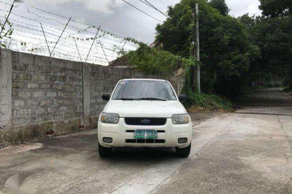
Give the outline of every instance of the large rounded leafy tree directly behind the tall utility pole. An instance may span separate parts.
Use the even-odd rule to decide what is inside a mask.
[[[259,55],[256,45],[238,19],[223,16],[204,0],[182,0],[169,7],[168,18],[156,27],[156,41],[175,55],[190,57],[195,41],[192,13],[199,4],[201,85],[205,92],[232,96],[240,90],[241,75],[252,58]],[[233,96],[232,96],[233,97]]]

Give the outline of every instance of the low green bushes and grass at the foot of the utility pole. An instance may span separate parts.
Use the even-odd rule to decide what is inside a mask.
[[[190,112],[232,112],[234,104],[226,98],[216,94],[204,94],[192,92],[187,95],[187,101],[184,103],[187,111]]]

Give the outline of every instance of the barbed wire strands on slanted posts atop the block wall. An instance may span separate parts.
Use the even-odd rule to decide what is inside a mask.
[[[0,4],[12,6],[3,1],[0,1]],[[74,61],[80,61],[80,57],[85,60],[89,55],[88,62],[97,64],[107,63],[108,59],[115,60],[121,50],[128,52],[138,47],[138,41],[101,28],[95,39],[93,34],[95,35],[98,30],[96,26],[74,19],[71,19],[70,23],[65,26],[68,22],[65,23],[65,19],[69,20],[69,17],[31,7],[37,12],[32,11],[33,9],[27,10],[28,14],[21,15],[11,12],[10,18],[8,18],[13,33],[9,38],[4,37],[1,42],[5,42],[12,50]],[[6,20],[4,13],[9,13],[9,11],[0,9],[1,22]],[[54,25],[54,22],[57,25]],[[84,29],[80,25],[76,26],[77,23],[84,25]],[[60,29],[60,25],[65,29]],[[94,46],[90,51],[93,42]],[[126,46],[123,47],[124,45]],[[55,50],[50,53],[53,47]],[[78,47],[79,54],[76,47]]]

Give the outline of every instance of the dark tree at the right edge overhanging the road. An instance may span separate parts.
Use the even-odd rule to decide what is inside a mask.
[[[262,16],[239,18],[248,27],[251,41],[261,50],[261,58],[253,61],[248,77],[268,82],[276,76],[290,80],[292,86],[292,75],[289,75],[292,72],[292,1],[260,0],[260,3]]]

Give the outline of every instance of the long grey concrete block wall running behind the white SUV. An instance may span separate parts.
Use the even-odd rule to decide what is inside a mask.
[[[123,78],[143,75],[111,68],[0,50],[0,148],[53,135],[97,128],[98,116]],[[183,78],[165,78],[180,93]]]

